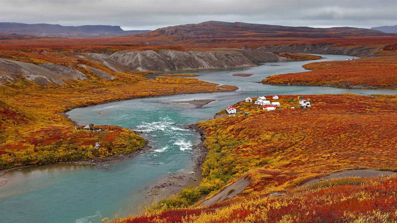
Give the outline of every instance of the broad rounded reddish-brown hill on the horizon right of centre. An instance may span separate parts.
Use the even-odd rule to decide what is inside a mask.
[[[360,36],[384,36],[381,31],[354,27],[290,27],[281,25],[262,25],[241,22],[208,21],[198,24],[169,26],[136,35],[137,37],[171,37],[173,40],[189,40],[195,43],[217,42],[227,39],[257,39],[277,37],[299,38],[341,38]]]

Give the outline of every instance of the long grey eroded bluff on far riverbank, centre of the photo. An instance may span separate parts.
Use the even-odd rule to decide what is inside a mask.
[[[271,52],[242,49],[154,52],[125,50],[110,55],[119,64],[138,71],[169,72],[192,69],[251,67],[257,63],[289,60]]]

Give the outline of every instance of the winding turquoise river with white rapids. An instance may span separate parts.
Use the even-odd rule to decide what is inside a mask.
[[[349,56],[321,55],[319,61],[345,60]],[[104,217],[137,213],[147,201],[147,191],[170,173],[190,173],[195,158],[191,150],[200,140],[186,125],[211,119],[216,112],[242,98],[272,94],[397,94],[396,90],[351,90],[331,87],[272,86],[254,82],[268,75],[305,71],[308,62],[272,62],[258,67],[195,73],[198,79],[234,85],[236,92],[185,94],[141,98],[76,108],[67,112],[81,125],[119,125],[141,131],[153,150],[100,167],[52,164],[13,170],[0,177],[9,183],[0,187],[1,222],[101,222]],[[233,73],[254,73],[251,77]],[[242,89],[241,89],[242,88]],[[215,99],[196,108],[189,104],[162,104],[170,101]]]

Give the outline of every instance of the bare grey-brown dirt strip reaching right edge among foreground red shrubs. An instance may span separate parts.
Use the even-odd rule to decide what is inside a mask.
[[[345,170],[336,173],[331,173],[326,177],[312,179],[310,181],[307,181],[301,186],[312,185],[314,183],[320,182],[321,180],[336,179],[343,177],[380,177],[383,175],[393,175],[393,174],[397,174],[397,172],[379,171],[374,169]]]

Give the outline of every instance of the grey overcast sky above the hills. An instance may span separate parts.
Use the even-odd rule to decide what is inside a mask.
[[[204,21],[371,28],[397,25],[397,0],[0,0],[0,21],[158,29]]]

